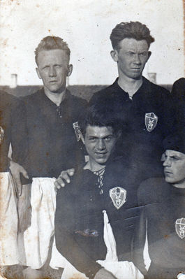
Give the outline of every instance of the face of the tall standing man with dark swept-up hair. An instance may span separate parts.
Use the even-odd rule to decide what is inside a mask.
[[[124,38],[119,42],[116,59],[119,73],[127,78],[139,79],[149,59],[149,46],[147,41],[137,41],[134,38]]]

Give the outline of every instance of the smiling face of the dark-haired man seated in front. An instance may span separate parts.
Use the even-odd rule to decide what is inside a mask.
[[[112,127],[88,125],[84,144],[89,155],[89,162],[94,166],[106,164],[116,142],[117,137]]]

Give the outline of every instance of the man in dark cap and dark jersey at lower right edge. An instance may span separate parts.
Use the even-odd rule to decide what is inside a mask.
[[[145,180],[138,189],[142,213],[135,230],[134,262],[147,279],[175,279],[178,273],[185,274],[184,139],[184,131],[165,138],[162,156],[164,178]],[[151,258],[148,272],[142,253],[146,231]]]

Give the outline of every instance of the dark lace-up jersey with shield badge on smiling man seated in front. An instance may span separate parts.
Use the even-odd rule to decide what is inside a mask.
[[[103,194],[98,187],[98,176],[89,170],[77,171],[71,180],[71,185],[57,192],[54,226],[61,255],[78,271],[93,278],[101,268],[96,260],[105,259],[107,252],[103,241],[103,210],[106,210],[118,259],[131,261],[131,243],[139,213],[135,176],[127,162],[114,159],[105,167]]]

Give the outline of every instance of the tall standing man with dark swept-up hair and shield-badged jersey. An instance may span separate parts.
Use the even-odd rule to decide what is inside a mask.
[[[112,59],[117,63],[118,78],[92,96],[90,103],[109,103],[120,115],[122,105],[128,103],[131,124],[129,144],[133,164],[158,173],[162,141],[170,130],[173,119],[170,93],[142,76],[154,42],[150,31],[140,22],[121,22],[110,35]],[[119,148],[121,152],[121,148]]]

